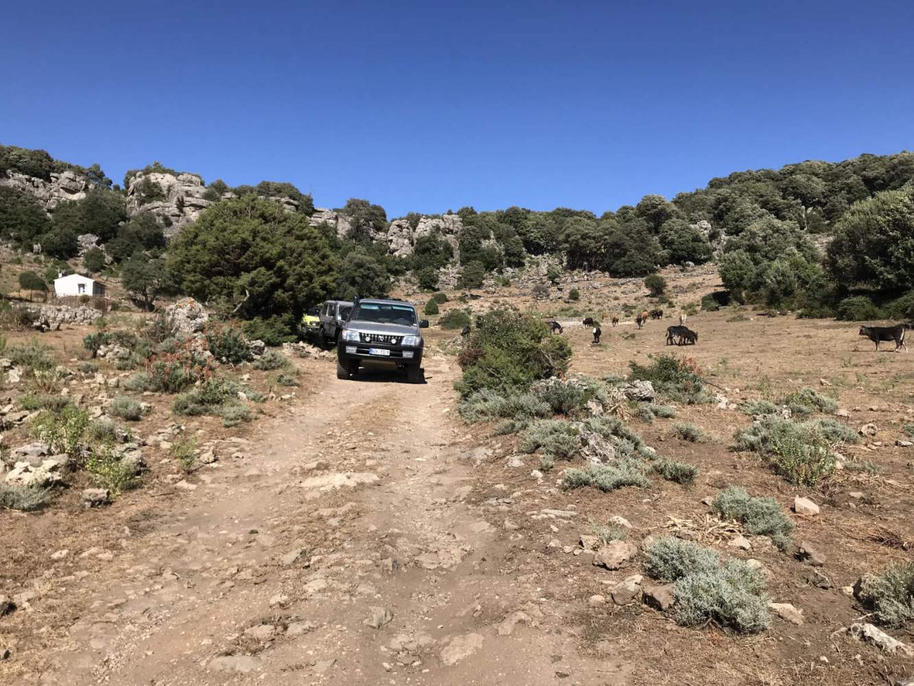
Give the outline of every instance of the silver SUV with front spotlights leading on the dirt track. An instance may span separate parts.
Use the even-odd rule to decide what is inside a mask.
[[[416,308],[399,300],[358,300],[336,343],[336,378],[350,379],[362,362],[406,370],[410,383],[421,383],[425,341]]]

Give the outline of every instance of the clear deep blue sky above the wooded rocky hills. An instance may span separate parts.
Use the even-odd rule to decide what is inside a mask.
[[[208,6],[204,6],[208,5]],[[0,143],[388,217],[914,148],[914,3],[4,3]]]

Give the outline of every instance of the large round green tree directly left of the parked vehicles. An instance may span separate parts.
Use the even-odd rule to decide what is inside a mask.
[[[172,241],[169,264],[198,300],[237,306],[268,343],[292,338],[306,307],[335,295],[332,236],[255,196],[218,202]]]

